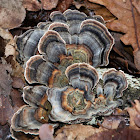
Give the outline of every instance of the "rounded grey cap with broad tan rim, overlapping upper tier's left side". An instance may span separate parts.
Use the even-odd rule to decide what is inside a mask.
[[[46,32],[39,41],[40,54],[46,54],[52,63],[58,63],[61,55],[66,55],[65,42],[56,31]]]

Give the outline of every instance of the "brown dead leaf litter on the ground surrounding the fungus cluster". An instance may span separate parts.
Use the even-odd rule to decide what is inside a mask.
[[[54,10],[60,10],[60,11],[65,11],[68,9],[68,7],[71,5],[71,1],[66,1],[62,0],[63,2],[58,2],[56,9]],[[88,3],[90,1],[90,3]],[[117,32],[122,32],[125,33],[122,36],[117,36],[116,38],[119,39],[121,38],[121,41],[125,45],[132,45],[133,47],[133,53],[132,50],[130,50],[129,53],[126,53],[126,51],[122,48],[119,48],[120,46],[117,45],[114,47],[114,51],[119,54],[118,58],[114,58],[116,61],[120,61],[121,63],[124,62],[124,68],[130,73],[135,73],[137,69],[139,69],[139,24],[138,24],[138,19],[140,18],[140,8],[139,4],[140,2],[137,0],[134,1],[97,1],[97,0],[85,0],[84,4],[82,3],[80,7],[85,7],[87,4],[89,14],[92,14],[92,4],[94,5],[94,8],[96,9],[94,12],[95,14],[102,14],[103,17],[105,17],[106,20],[106,25],[109,29],[112,31],[117,31]],[[78,1],[77,1],[78,2]],[[113,7],[114,3],[116,4],[115,7]],[[40,3],[38,3],[40,4]],[[91,5],[90,5],[91,4]],[[100,4],[100,5],[99,5]],[[74,5],[76,5],[74,3]],[[104,5],[105,7],[102,7]],[[37,11],[40,10],[40,6],[38,7],[33,7],[33,4],[31,6],[31,11]],[[90,6],[90,7],[89,7]],[[32,7],[35,8],[35,10],[32,10]],[[98,8],[97,8],[98,7]],[[113,7],[113,8],[112,8]],[[26,7],[25,7],[26,8]],[[107,9],[106,9],[107,8]],[[90,9],[90,10],[89,10]],[[118,10],[119,9],[119,10]],[[28,9],[27,9],[28,10]],[[51,9],[52,10],[52,9]],[[103,11],[106,11],[105,14],[103,14]],[[119,12],[118,12],[119,11]],[[126,11],[126,12],[125,12]],[[133,13],[132,13],[133,11]],[[40,12],[40,11],[39,11]],[[49,13],[50,11],[45,11],[46,13]],[[41,15],[41,13],[40,13]],[[125,16],[125,18],[123,18]],[[23,18],[23,17],[22,17]],[[126,19],[129,19],[129,22],[126,22]],[[10,21],[10,20],[9,20]],[[20,24],[22,22],[20,21]],[[135,26],[134,26],[135,25]],[[13,25],[7,25],[6,28],[11,29],[18,27],[18,24]],[[5,27],[4,27],[5,28]],[[3,35],[9,36],[6,32],[6,30],[3,30],[4,32]],[[6,32],[5,32],[6,31]],[[1,35],[2,36],[2,35]],[[5,42],[4,46],[4,55],[7,57],[6,61],[5,59],[2,59],[1,64],[0,64],[0,70],[2,73],[2,76],[0,77],[1,79],[1,88],[0,88],[0,112],[2,113],[2,117],[0,119],[0,127],[2,128],[0,131],[0,138],[6,138],[10,135],[9,131],[9,126],[10,126],[10,118],[12,114],[20,107],[22,106],[23,100],[22,100],[22,94],[19,91],[19,89],[22,89],[24,86],[24,76],[23,76],[23,69],[20,67],[20,65],[16,61],[16,53],[15,53],[15,44],[13,41],[13,37],[3,37],[2,38],[5,40],[5,38],[8,38]],[[9,41],[10,40],[10,41]],[[10,46],[9,46],[10,44]],[[14,46],[14,47],[11,47]],[[13,50],[13,51],[12,51]],[[134,56],[134,60],[133,57]],[[120,59],[120,57],[122,59]],[[133,63],[135,62],[135,64]],[[137,62],[138,61],[138,62]],[[117,64],[119,65],[119,64]],[[6,80],[6,78],[9,80]],[[83,139],[81,137],[83,134],[84,139],[90,140],[90,139],[138,139],[138,135],[140,134],[140,124],[139,124],[139,101],[135,101],[135,104],[133,104],[133,107],[130,107],[127,109],[129,115],[130,115],[130,126],[126,126],[126,124],[123,124],[125,117],[120,116],[109,116],[110,118],[105,118],[104,122],[99,128],[93,128],[92,126],[88,125],[65,125],[58,131],[54,133],[55,137],[54,139]],[[110,123],[110,119],[112,122]],[[105,124],[109,124],[109,129],[105,128]],[[114,128],[114,126],[116,126]],[[120,127],[121,126],[121,127]],[[47,127],[46,127],[47,128]],[[113,130],[111,130],[113,129]],[[7,130],[7,131],[5,131]],[[43,132],[45,133],[45,129]],[[81,133],[82,132],[82,133]],[[88,133],[90,132],[90,133]],[[52,131],[50,132],[50,134]],[[90,135],[91,134],[91,135]],[[20,132],[16,134],[18,139],[39,139],[38,137],[32,137],[32,136],[27,136],[24,133]],[[127,137],[126,137],[127,136]]]

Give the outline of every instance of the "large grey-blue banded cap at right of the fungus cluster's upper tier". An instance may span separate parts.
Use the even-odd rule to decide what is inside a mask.
[[[98,67],[108,64],[108,56],[114,39],[103,24],[87,19],[81,23],[79,44],[84,44],[91,50],[93,66]]]

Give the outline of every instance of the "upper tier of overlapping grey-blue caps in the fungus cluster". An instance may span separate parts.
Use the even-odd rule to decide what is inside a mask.
[[[74,57],[76,50],[78,55],[81,51],[81,55],[91,57],[86,63],[94,67],[108,64],[114,39],[101,16],[87,17],[85,13],[68,9],[63,14],[52,12],[50,19],[52,21],[41,22],[37,28],[17,37],[18,59],[24,64],[38,51],[45,54],[50,62],[56,63],[62,54]]]

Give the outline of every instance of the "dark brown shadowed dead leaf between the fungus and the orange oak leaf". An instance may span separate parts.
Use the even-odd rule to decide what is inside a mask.
[[[111,32],[115,39],[115,44],[110,53],[109,67],[115,67],[129,73],[135,74],[138,72],[134,64],[133,49],[131,46],[125,46],[120,37],[123,36],[121,33]]]

